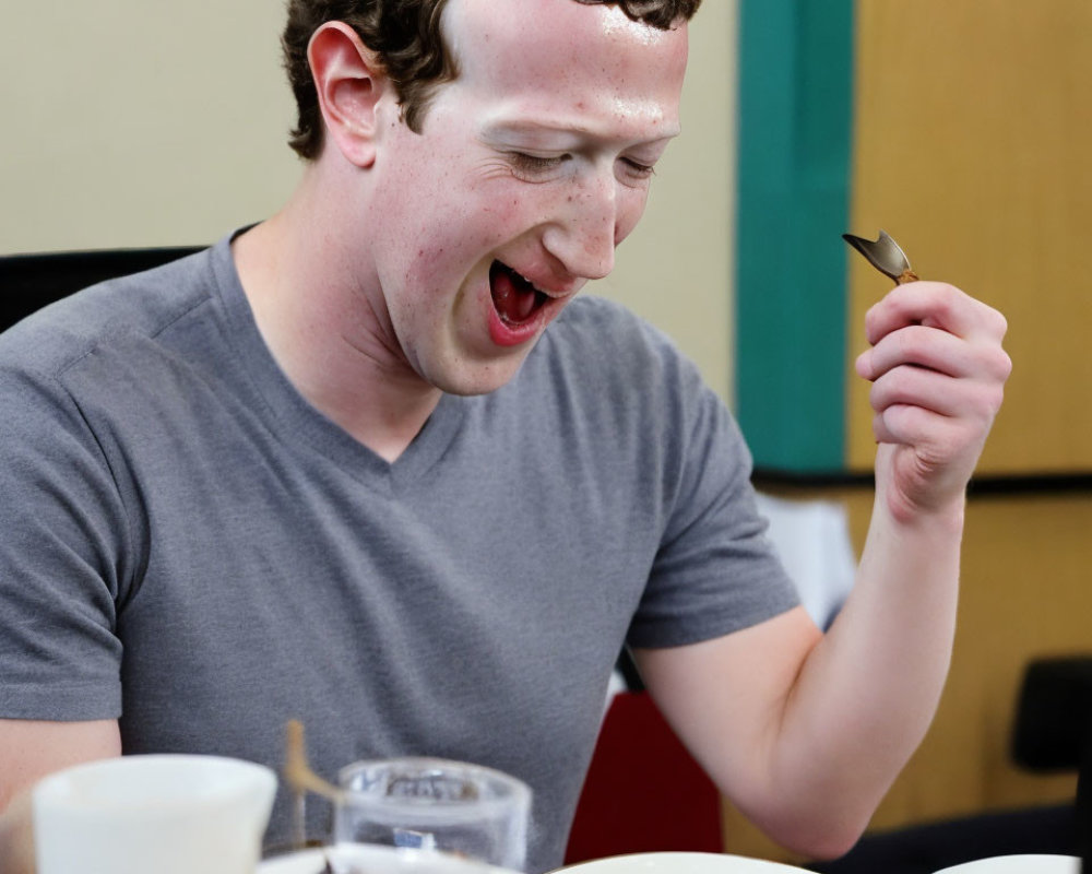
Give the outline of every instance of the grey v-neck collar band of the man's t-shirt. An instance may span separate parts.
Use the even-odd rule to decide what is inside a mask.
[[[399,489],[416,481],[443,454],[462,421],[465,401],[441,394],[425,426],[393,462],[361,444],[317,410],[290,382],[273,357],[254,320],[235,268],[232,237],[211,252],[215,286],[219,296],[227,341],[236,359],[261,398],[264,416],[282,441],[304,444],[322,453],[353,476],[370,485],[385,483]]]

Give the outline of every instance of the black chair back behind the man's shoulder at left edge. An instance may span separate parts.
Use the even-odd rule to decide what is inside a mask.
[[[96,282],[149,270],[201,248],[179,246],[0,256],[0,331],[46,304]]]

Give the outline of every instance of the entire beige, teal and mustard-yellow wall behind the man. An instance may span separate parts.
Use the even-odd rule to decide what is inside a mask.
[[[211,244],[292,190],[283,5],[0,0],[0,255]],[[934,728],[877,831],[1071,800],[1014,763],[1023,672],[1092,650],[1092,3],[707,0],[684,135],[595,291],[736,410],[757,482],[871,500],[862,320],[887,280],[842,232],[1001,309],[1014,361],[972,487]],[[0,294],[3,290],[0,288]],[[724,808],[736,852],[787,858]]]

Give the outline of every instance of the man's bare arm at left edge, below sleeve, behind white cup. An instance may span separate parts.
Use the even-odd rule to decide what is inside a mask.
[[[34,782],[70,765],[119,755],[121,737],[114,720],[0,719],[0,860],[5,874],[34,871],[29,803]]]

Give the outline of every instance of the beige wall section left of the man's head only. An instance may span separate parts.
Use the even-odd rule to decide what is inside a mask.
[[[281,9],[0,0],[0,251],[195,245],[268,215],[298,173]]]

